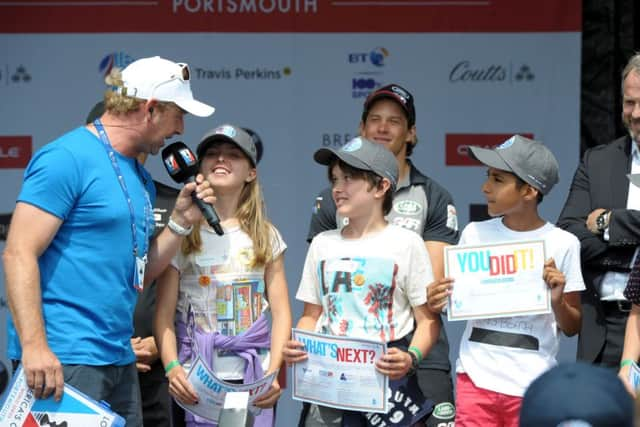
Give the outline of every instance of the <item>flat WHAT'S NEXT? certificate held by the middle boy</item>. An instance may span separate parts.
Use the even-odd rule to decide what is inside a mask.
[[[383,342],[293,329],[309,358],[293,367],[293,398],[350,411],[387,413],[389,378],[375,368]]]

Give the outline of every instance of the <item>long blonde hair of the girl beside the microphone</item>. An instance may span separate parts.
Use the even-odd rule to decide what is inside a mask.
[[[249,161],[249,163],[251,162]],[[250,267],[269,263],[272,257],[273,226],[267,219],[264,198],[257,176],[253,181],[244,184],[235,216],[240,222],[242,231],[247,233],[253,242],[253,259]],[[191,234],[182,242],[182,253],[189,255],[201,250],[200,224],[196,224]]]

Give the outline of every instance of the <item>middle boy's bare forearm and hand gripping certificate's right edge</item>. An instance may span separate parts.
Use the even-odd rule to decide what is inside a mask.
[[[416,319],[416,329],[409,346],[416,347],[424,357],[438,340],[440,321],[438,315],[432,313],[426,304],[413,307],[413,316]],[[387,353],[376,362],[378,371],[388,375],[391,380],[405,376],[410,367],[411,356],[408,352],[398,348],[390,348]]]

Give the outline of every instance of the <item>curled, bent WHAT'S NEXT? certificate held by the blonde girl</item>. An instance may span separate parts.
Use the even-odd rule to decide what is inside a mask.
[[[187,380],[193,385],[200,400],[197,405],[186,405],[177,399],[176,403],[194,415],[217,423],[227,393],[248,391],[249,412],[258,415],[261,409],[253,406],[253,402],[269,390],[276,375],[278,375],[277,371],[272,372],[252,384],[230,384],[216,377],[206,363],[198,357],[187,373]]]

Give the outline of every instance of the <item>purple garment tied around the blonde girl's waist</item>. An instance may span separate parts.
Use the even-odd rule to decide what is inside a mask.
[[[192,316],[189,316],[187,324],[176,321],[176,338],[178,341],[180,363],[195,359],[196,351],[202,360],[207,364],[209,369],[215,372],[213,366],[213,355],[218,350],[224,350],[234,353],[236,356],[243,358],[246,363],[244,372],[245,384],[250,384],[264,377],[264,370],[258,357],[258,349],[270,348],[271,333],[269,324],[264,314],[256,320],[253,325],[245,332],[236,336],[226,336],[219,332],[204,332],[200,327],[195,325]],[[189,333],[192,331],[192,334]],[[195,341],[195,342],[194,342]],[[217,426],[204,418],[195,416],[189,412],[185,412],[185,421],[188,426]],[[255,427],[272,427],[274,421],[273,408],[263,409],[260,415],[255,417]]]

